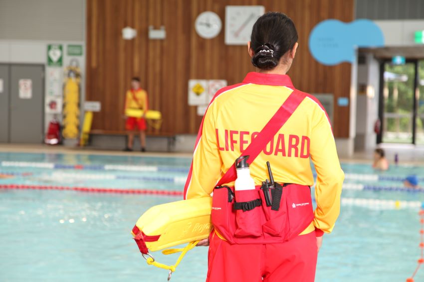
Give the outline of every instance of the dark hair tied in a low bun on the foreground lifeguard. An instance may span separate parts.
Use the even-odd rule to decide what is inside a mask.
[[[268,12],[262,15],[253,25],[250,36],[250,48],[255,52],[253,66],[259,69],[275,68],[297,39],[296,27],[286,14]]]

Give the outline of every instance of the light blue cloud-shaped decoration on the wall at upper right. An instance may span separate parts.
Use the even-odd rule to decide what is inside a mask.
[[[324,65],[355,60],[355,47],[383,47],[380,27],[369,19],[342,22],[328,19],[318,23],[309,35],[309,51]]]

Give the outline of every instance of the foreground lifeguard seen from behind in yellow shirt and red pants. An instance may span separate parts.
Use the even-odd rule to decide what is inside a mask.
[[[344,174],[327,113],[286,75],[297,39],[285,14],[262,15],[248,44],[257,72],[219,90],[199,130],[185,198],[213,192],[214,229],[199,243],[210,246],[208,282],[314,281],[339,215]]]

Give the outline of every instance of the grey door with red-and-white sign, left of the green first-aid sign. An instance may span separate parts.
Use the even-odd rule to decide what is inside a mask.
[[[10,66],[10,143],[41,143],[43,140],[43,72],[44,66],[40,65]],[[28,85],[28,80],[32,84],[31,91],[22,87]]]

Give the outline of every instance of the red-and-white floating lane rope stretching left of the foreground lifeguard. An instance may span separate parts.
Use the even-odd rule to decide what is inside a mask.
[[[81,191],[81,192],[150,194],[150,195],[165,195],[165,196],[182,196],[183,195],[183,191],[176,191],[176,190],[64,187],[64,186],[44,186],[44,185],[17,185],[17,184],[0,185],[0,189],[69,190],[69,191]]]

